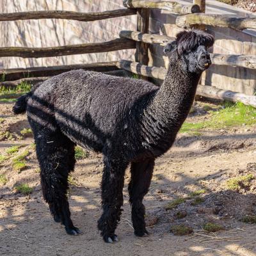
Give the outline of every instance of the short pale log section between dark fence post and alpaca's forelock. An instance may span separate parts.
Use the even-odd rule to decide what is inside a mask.
[[[168,42],[172,42],[175,38],[164,35],[147,34],[138,31],[120,31],[119,36],[121,38],[127,38],[138,42],[144,42],[147,44],[160,44],[166,45]]]

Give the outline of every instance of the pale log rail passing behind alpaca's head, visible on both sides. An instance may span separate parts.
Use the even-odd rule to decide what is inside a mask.
[[[127,38],[138,42],[145,42],[147,44],[160,44],[166,45],[168,42],[172,42],[175,38],[164,35],[155,34],[143,34],[137,31],[120,31],[119,36],[121,38]],[[211,53],[212,64],[236,66],[244,68],[256,69],[256,56],[254,55],[236,55],[236,54],[218,54]]]

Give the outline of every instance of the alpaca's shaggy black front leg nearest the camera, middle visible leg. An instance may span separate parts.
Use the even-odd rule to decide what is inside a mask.
[[[107,157],[106,157],[107,158]],[[102,175],[102,209],[103,213],[98,221],[98,228],[106,243],[118,241],[115,229],[122,212],[124,173],[127,164],[120,161],[104,161]]]

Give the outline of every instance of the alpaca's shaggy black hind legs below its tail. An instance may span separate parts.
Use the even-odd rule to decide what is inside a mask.
[[[34,131],[35,132],[35,131]],[[42,193],[56,222],[65,225],[67,234],[81,231],[70,219],[67,200],[68,173],[74,170],[74,143],[63,134],[42,129],[35,133],[36,154],[41,169]]]

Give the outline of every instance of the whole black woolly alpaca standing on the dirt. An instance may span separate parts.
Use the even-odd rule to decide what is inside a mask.
[[[27,112],[35,137],[43,196],[54,220],[63,223],[68,234],[81,233],[70,219],[67,200],[75,145],[103,154],[98,228],[104,241],[117,241],[129,164],[134,234],[148,234],[142,201],[154,161],[172,146],[188,116],[200,75],[211,65],[207,49],[213,42],[203,31],[177,34],[164,48],[170,66],[160,88],[140,79],[73,70],[51,77],[17,100],[13,112]]]

